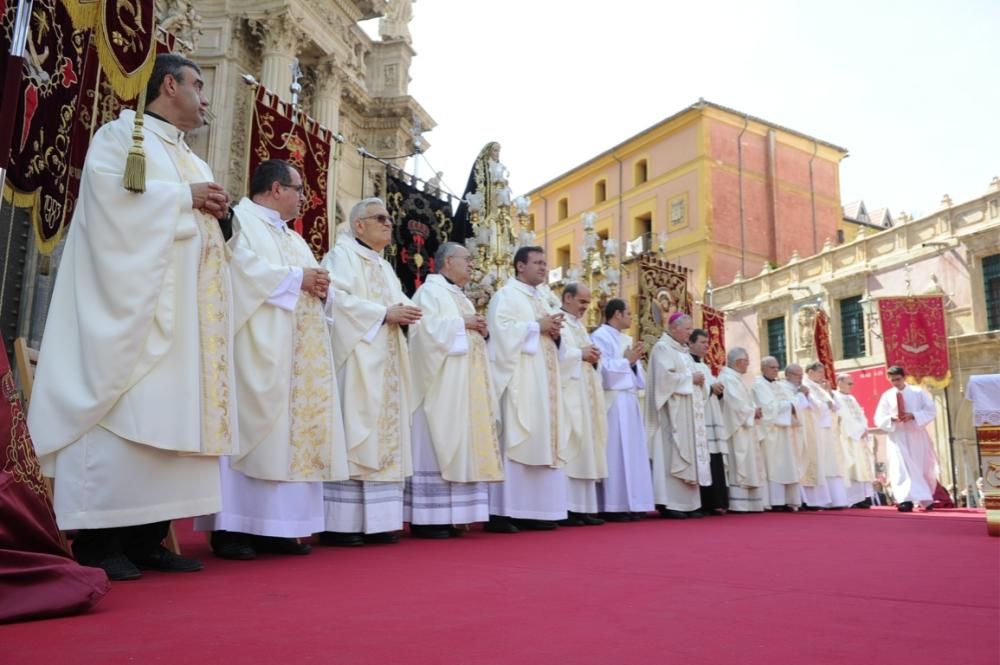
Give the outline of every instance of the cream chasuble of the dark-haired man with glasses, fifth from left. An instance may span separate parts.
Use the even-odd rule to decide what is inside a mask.
[[[558,350],[537,323],[551,313],[541,292],[513,279],[490,300],[486,316],[504,454],[527,466],[561,468],[567,436]]]

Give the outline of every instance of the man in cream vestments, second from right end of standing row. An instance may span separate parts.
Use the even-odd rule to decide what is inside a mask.
[[[822,460],[826,489],[830,497],[829,503],[820,507],[846,508],[849,505],[847,487],[851,483],[850,462],[840,443],[840,404],[827,389],[826,368],[823,363],[817,361],[806,366],[802,385],[809,391],[816,448]]]

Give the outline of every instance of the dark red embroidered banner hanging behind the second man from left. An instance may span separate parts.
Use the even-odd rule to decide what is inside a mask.
[[[295,113],[262,85],[253,99],[253,121],[247,155],[247,182],[261,162],[283,159],[302,176],[303,194],[295,230],[305,238],[317,261],[330,249],[327,183],[333,156],[333,133],[309,116]]]

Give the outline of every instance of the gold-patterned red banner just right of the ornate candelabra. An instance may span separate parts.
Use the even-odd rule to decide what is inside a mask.
[[[664,318],[674,312],[691,314],[687,278],[691,271],[651,254],[639,257],[639,339],[652,349],[660,338]]]

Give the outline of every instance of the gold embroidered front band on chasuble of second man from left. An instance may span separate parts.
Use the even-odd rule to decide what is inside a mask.
[[[284,265],[312,267],[315,259],[296,235],[268,224]],[[333,463],[331,404],[334,391],[333,356],[323,305],[301,293],[295,305],[292,333],[292,383],[288,406],[291,416],[288,458],[289,480],[322,480]]]

